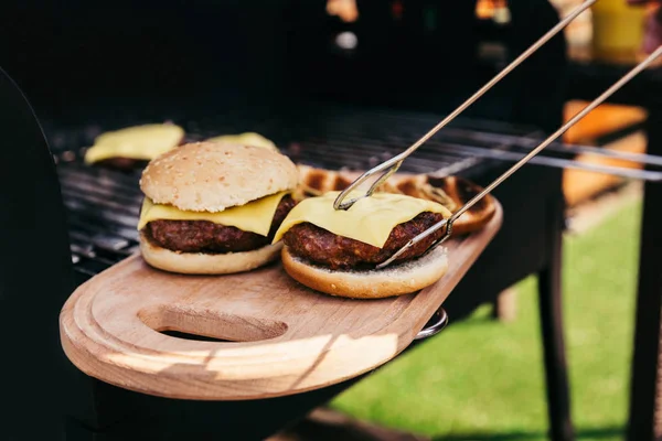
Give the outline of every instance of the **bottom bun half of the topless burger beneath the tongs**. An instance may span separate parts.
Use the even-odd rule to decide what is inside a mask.
[[[441,247],[419,259],[373,270],[332,270],[292,256],[287,247],[281,256],[282,267],[299,283],[352,299],[381,299],[416,292],[441,279],[448,270],[448,257]]]

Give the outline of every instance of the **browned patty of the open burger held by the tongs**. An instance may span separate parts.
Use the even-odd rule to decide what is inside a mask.
[[[338,236],[310,223],[295,225],[284,235],[282,241],[292,255],[331,269],[361,269],[385,261],[407,241],[442,219],[438,213],[420,213],[412,220],[396,225],[383,248]],[[421,256],[442,235],[444,228],[409,248],[396,261]]]

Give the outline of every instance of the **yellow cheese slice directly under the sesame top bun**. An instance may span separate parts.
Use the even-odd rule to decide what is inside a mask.
[[[172,205],[154,204],[149,197],[146,197],[140,211],[138,229],[142,229],[152,220],[209,220],[214,224],[268,236],[276,208],[278,208],[280,200],[288,193],[287,191],[276,193],[218,213],[188,212]]]

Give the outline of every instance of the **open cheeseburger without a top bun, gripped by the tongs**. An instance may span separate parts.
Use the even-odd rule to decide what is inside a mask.
[[[340,192],[301,201],[274,236],[282,239],[282,265],[300,283],[332,295],[382,298],[418,291],[448,269],[446,252],[419,241],[391,266],[376,269],[410,239],[450,217],[444,205],[404,194],[376,193],[346,211],[333,208]]]

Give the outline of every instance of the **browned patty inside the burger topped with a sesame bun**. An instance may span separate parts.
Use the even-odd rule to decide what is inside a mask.
[[[287,195],[276,208],[268,236],[244,232],[209,220],[152,220],[146,225],[147,237],[172,251],[223,254],[250,251],[271,243],[276,230],[296,205]]]

